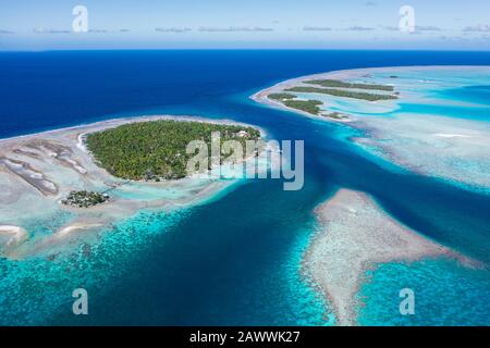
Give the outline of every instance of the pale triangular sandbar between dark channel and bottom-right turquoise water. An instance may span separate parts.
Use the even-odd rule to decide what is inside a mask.
[[[365,194],[341,189],[316,209],[320,227],[304,271],[332,303],[336,325],[356,325],[356,298],[366,271],[377,264],[454,258],[473,261],[401,225]]]

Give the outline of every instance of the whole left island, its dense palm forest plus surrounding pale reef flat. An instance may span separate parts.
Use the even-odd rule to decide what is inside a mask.
[[[186,153],[188,142],[216,148],[215,132],[220,145],[235,140],[248,149],[248,141],[261,144],[261,130],[250,125],[183,115],[114,119],[0,139],[0,258],[49,256],[53,246],[98,233],[143,209],[171,212],[232,187],[237,181],[186,171],[187,158],[196,156]],[[256,153],[246,152],[243,161],[255,160]],[[228,161],[240,161],[231,154],[221,153],[225,170]],[[211,162],[215,169],[218,161]],[[24,225],[52,216],[65,219],[49,226],[52,234],[30,243]]]

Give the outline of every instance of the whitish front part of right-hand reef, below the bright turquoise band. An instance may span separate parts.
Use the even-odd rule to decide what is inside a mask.
[[[421,175],[457,186],[490,191],[490,123],[444,116],[401,113],[396,119],[372,117],[358,125],[354,139]]]

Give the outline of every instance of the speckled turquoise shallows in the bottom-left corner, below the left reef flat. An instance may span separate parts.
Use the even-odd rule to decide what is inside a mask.
[[[132,259],[185,214],[142,212],[111,226],[110,233],[93,236],[95,240],[60,250],[54,258],[41,254],[23,261],[0,260],[0,325],[44,324],[60,307],[71,306],[73,289],[86,286],[97,293],[99,287],[115,284]]]

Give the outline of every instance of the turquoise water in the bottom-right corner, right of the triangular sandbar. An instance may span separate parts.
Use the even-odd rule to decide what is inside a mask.
[[[359,310],[360,325],[489,324],[488,271],[468,270],[454,260],[424,260],[383,264],[368,272],[368,279],[358,295],[366,303]],[[415,315],[400,315],[403,288],[414,290]],[[464,308],[471,314],[462,313]]]

